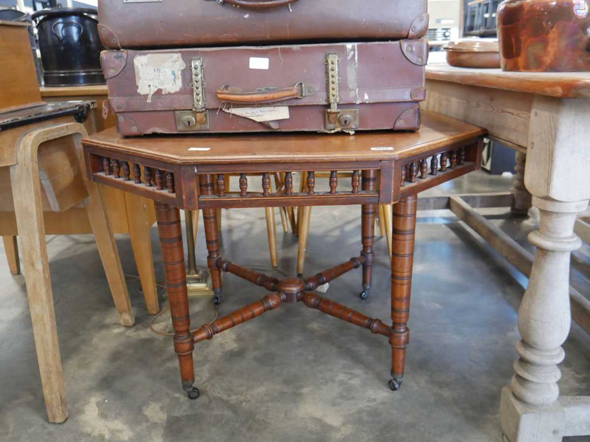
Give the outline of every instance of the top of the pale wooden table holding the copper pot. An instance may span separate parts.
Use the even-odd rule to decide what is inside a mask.
[[[445,62],[428,64],[426,78],[558,98],[590,98],[590,72],[504,72],[455,68]]]

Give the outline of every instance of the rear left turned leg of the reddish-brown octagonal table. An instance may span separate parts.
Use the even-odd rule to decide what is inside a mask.
[[[213,175],[201,175],[201,194],[212,195],[214,191]],[[211,280],[213,284],[213,293],[215,297],[213,302],[221,302],[221,271],[215,265],[220,258],[219,255],[219,229],[217,227],[217,211],[215,209],[203,209],[203,225],[205,226],[205,240],[207,242],[207,265],[211,271]]]

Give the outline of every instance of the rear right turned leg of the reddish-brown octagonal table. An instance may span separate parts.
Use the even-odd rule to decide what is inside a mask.
[[[362,190],[375,190],[376,170],[363,170]],[[375,217],[377,216],[377,204],[362,205],[362,243],[363,249],[360,255],[365,256],[363,263],[363,291],[360,292],[360,299],[367,299],[371,290],[373,277],[373,245],[375,245]]]

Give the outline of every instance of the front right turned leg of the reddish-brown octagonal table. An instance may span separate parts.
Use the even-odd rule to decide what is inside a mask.
[[[389,388],[399,390],[404,377],[405,351],[409,342],[409,299],[416,229],[416,196],[394,204],[391,254],[391,376]]]

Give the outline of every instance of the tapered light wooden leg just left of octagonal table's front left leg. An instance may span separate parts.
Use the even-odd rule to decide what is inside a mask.
[[[150,237],[149,206],[150,200],[125,192],[125,206],[127,209],[127,225],[129,238],[135,256],[137,273],[142,285],[143,298],[150,315],[160,311],[158,301],[158,286],[153,265],[152,239]]]

